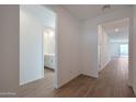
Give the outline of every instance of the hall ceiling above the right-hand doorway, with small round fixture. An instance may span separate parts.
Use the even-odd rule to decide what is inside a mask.
[[[61,4],[61,7],[79,20],[88,20],[131,5],[111,4],[111,9],[105,9],[104,11],[102,11],[103,4]]]

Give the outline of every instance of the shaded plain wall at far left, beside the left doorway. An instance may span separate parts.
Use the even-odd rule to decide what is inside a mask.
[[[19,11],[0,5],[0,97],[16,97],[19,88]]]

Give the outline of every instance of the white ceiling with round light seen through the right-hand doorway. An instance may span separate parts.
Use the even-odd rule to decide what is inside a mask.
[[[118,21],[107,22],[102,24],[102,27],[114,41],[126,41],[128,39],[128,19],[123,19]],[[118,29],[118,32],[115,32],[115,29]]]

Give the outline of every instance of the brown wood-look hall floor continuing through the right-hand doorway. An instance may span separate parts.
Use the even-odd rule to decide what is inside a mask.
[[[58,97],[107,97],[129,98],[134,97],[132,88],[127,86],[127,58],[113,59],[101,72],[100,78],[94,79],[79,76],[68,84],[60,88]]]

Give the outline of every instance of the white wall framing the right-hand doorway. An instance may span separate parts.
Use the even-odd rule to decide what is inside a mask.
[[[83,70],[82,73],[98,77],[99,76],[99,57],[98,57],[98,25],[105,22],[111,22],[115,20],[121,20],[124,18],[129,18],[132,20],[132,7],[128,9],[123,9],[118,11],[111,12],[84,22],[83,34],[82,34],[82,61]],[[131,21],[132,27],[132,21]],[[129,37],[132,37],[132,32],[129,32]],[[129,50],[132,49],[132,41],[129,41]],[[129,57],[132,54],[129,53]],[[129,63],[132,60],[129,58]],[[129,64],[129,70],[132,68]],[[132,70],[131,70],[132,71]],[[131,76],[131,73],[129,73]]]

